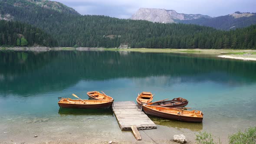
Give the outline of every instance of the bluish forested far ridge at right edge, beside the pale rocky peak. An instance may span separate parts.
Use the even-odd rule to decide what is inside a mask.
[[[180,23],[197,24],[214,27],[216,29],[230,30],[256,24],[256,15],[255,13],[235,12],[233,14],[213,17],[211,19],[199,18],[196,20],[181,20]]]

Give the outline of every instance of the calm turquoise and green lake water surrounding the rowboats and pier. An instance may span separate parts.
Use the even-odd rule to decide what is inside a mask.
[[[122,133],[111,109],[57,104],[58,97],[88,99],[86,92],[95,90],[115,101],[136,101],[142,91],[155,94],[153,101],[183,97],[187,107],[203,111],[201,124],[151,117],[166,131],[209,131],[224,138],[256,125],[256,62],[170,53],[0,52],[0,139],[56,130],[53,138],[61,131]]]

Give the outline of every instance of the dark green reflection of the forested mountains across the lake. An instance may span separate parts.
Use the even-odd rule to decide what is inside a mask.
[[[256,82],[255,72],[256,62],[170,53],[0,52],[1,93],[62,91],[80,80],[151,76],[162,79],[158,82],[221,80],[232,85],[249,84]]]

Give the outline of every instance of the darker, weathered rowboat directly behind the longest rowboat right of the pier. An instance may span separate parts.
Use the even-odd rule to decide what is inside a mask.
[[[184,107],[188,104],[187,99],[185,98],[174,98],[171,101],[158,101],[158,102],[149,102],[147,105],[152,106],[161,106],[161,107],[167,107],[167,108],[179,108]]]

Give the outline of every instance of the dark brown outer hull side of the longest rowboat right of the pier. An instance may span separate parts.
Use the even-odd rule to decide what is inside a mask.
[[[166,118],[166,119],[177,120],[177,121],[188,121],[188,122],[202,122],[203,121],[203,118],[186,117],[186,116],[182,116],[182,115],[167,114],[167,113],[164,113],[164,112],[161,112],[161,111],[153,110],[153,109],[148,108],[144,105],[142,105],[142,109],[146,114],[152,115],[152,116],[155,116],[155,117],[159,117],[159,118]]]

